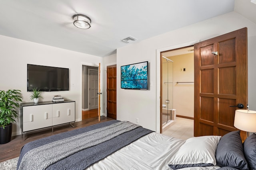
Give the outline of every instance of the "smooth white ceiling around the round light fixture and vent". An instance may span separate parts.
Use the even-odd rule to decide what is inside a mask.
[[[251,6],[256,11],[250,0],[0,0],[0,35],[104,57],[129,45],[125,37],[141,41],[232,11],[256,23]],[[74,14],[92,27],[76,28]]]

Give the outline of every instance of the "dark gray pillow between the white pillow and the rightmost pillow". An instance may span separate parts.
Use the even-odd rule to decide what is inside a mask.
[[[240,170],[248,170],[240,131],[232,131],[220,138],[215,157],[216,163],[220,167],[230,166]]]

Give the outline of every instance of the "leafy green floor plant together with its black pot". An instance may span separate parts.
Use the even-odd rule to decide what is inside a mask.
[[[11,141],[12,122],[18,117],[18,102],[22,102],[20,90],[0,90],[0,144]]]

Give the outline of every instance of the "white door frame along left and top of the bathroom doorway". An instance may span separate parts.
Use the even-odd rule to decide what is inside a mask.
[[[169,47],[164,47],[156,50],[156,132],[160,133],[160,53],[168,50],[178,49],[182,47],[188,47],[198,43],[200,40],[190,41],[182,44],[172,45]]]

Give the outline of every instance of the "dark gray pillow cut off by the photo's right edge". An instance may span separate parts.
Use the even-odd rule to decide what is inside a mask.
[[[244,141],[244,157],[250,170],[256,170],[256,134],[253,133]]]

